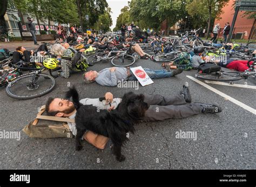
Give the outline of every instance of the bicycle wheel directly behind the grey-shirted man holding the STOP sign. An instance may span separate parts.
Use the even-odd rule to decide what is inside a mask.
[[[127,67],[127,66],[131,66],[135,61],[136,59],[132,55],[120,54],[120,55],[114,56],[113,59],[111,60],[111,63],[117,67]]]

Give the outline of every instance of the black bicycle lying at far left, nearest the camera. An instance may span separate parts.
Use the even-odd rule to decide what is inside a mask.
[[[7,79],[7,85],[5,93],[15,99],[32,99],[36,97],[41,97],[53,90],[56,85],[55,77],[50,75],[43,74],[42,72],[47,69],[42,66],[40,69],[37,68],[24,68],[24,64],[18,63],[18,66],[15,68],[9,68],[0,70],[0,72],[15,72],[18,70],[34,70],[30,73],[23,74],[14,78]],[[7,74],[8,75],[8,74]],[[2,77],[3,78],[3,77]]]

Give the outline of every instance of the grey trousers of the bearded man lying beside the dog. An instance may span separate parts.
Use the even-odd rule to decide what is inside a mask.
[[[197,103],[186,104],[183,95],[164,97],[161,95],[145,95],[144,102],[150,107],[143,121],[162,121],[165,119],[181,119],[199,114],[202,107]]]

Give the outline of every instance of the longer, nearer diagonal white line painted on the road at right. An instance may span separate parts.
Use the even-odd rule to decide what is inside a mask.
[[[221,92],[221,91],[219,91],[219,90],[217,90],[217,89],[215,89],[215,88],[210,87],[210,85],[207,85],[207,84],[205,84],[205,83],[203,83],[203,82],[197,80],[197,79],[194,78],[194,77],[191,77],[191,76],[188,76],[188,75],[187,75],[187,77],[190,78],[192,81],[197,82],[198,84],[203,85],[203,87],[205,87],[205,88],[207,88],[207,89],[209,89],[209,90],[211,90],[211,91],[217,93],[217,94],[220,95],[221,97],[224,97],[224,98],[230,100],[232,103],[234,103],[234,104],[236,104],[236,105],[238,105],[238,106],[241,106],[243,109],[245,109],[245,110],[247,110],[247,111],[249,111],[249,112],[252,112],[253,114],[256,115],[256,110],[253,109],[252,107],[250,107],[250,106],[248,106],[248,105],[246,105],[246,104],[244,104],[244,103],[241,103],[239,100],[234,99],[233,97],[230,97],[230,96],[226,95],[225,93],[223,93],[223,92]]]

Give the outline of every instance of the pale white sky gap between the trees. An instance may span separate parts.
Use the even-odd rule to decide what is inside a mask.
[[[124,6],[128,6],[129,1],[131,0],[106,0],[112,11],[111,18],[113,21],[113,25],[110,27],[111,29],[113,29],[116,26],[117,17],[120,15],[121,9],[123,9]]]

